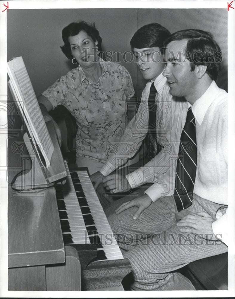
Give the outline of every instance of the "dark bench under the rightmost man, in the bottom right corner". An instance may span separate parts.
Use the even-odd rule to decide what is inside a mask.
[[[228,253],[194,261],[180,272],[191,281],[196,290],[227,290]]]

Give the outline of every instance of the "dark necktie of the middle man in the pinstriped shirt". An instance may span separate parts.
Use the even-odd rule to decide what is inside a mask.
[[[146,143],[146,162],[150,161],[155,155],[159,152],[159,144],[157,144],[156,138],[156,121],[157,121],[157,104],[155,102],[156,88],[154,83],[151,84],[149,99],[148,99],[148,108],[149,108],[149,128],[148,133],[145,138]]]

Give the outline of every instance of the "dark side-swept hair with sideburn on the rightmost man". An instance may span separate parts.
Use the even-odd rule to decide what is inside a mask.
[[[206,65],[206,73],[211,80],[217,80],[222,52],[210,32],[199,29],[187,29],[177,31],[165,40],[163,47],[167,48],[170,42],[186,39],[187,46],[184,49],[184,56],[191,62],[191,71],[196,65]]]

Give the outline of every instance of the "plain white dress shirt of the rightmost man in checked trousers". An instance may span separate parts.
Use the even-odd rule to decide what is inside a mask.
[[[228,205],[228,156],[227,156],[227,92],[213,81],[205,93],[193,104],[196,120],[197,172],[194,193],[209,201]],[[187,107],[182,111],[181,127],[186,120]],[[179,129],[179,127],[178,127]],[[181,129],[181,131],[182,131]],[[180,134],[181,134],[180,131]],[[175,135],[180,140],[179,132]],[[179,144],[177,146],[177,152]],[[168,171],[157,177],[157,183],[145,191],[153,201],[174,194],[176,160]],[[214,234],[221,234],[226,244],[227,215],[219,212],[213,222]]]

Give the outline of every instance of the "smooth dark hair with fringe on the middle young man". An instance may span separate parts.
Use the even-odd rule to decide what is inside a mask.
[[[159,47],[163,53],[162,46],[165,39],[171,35],[170,31],[158,23],[144,25],[133,35],[130,44],[131,49],[143,49]]]

